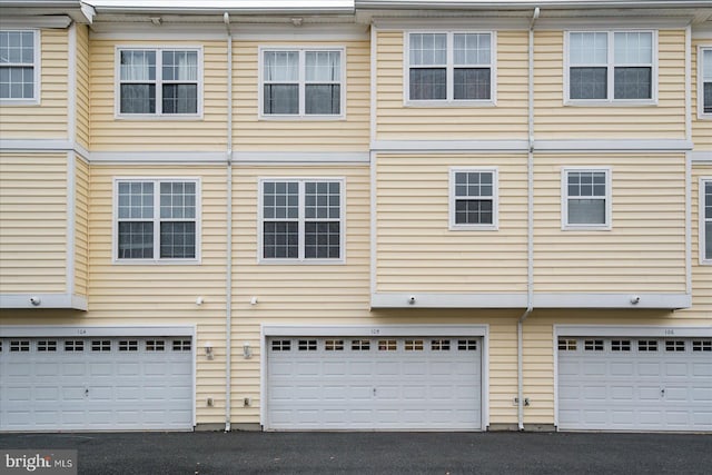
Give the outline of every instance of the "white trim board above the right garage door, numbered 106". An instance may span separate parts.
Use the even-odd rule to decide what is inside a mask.
[[[554,325],[554,336],[708,337],[712,336],[712,326]]]

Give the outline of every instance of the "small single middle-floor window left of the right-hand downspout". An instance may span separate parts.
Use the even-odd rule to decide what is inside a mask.
[[[451,230],[496,230],[497,211],[496,168],[451,168]]]

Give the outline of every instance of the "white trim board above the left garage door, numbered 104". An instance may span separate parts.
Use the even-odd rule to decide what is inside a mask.
[[[192,336],[194,326],[0,325],[0,337]]]

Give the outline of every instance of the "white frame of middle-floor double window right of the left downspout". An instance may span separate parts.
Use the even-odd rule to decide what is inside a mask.
[[[298,228],[299,228],[299,255],[297,258],[266,258],[264,257],[264,198],[265,184],[277,181],[291,181],[299,184],[299,205],[298,205]],[[305,184],[307,182],[338,182],[339,184],[339,258],[307,258],[304,256],[305,248]],[[334,265],[346,264],[346,178],[345,177],[261,177],[258,180],[258,200],[257,200],[257,263],[258,264],[277,264],[277,265]],[[291,220],[291,219],[290,219]],[[314,219],[309,219],[312,221]],[[318,220],[318,219],[317,219]],[[322,219],[328,220],[328,219]],[[332,219],[335,221],[335,219]]]

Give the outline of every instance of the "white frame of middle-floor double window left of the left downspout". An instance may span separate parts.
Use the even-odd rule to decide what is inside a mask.
[[[196,185],[196,257],[192,258],[161,258],[160,257],[160,184],[161,182],[194,182]],[[154,184],[154,258],[151,259],[120,259],[119,258],[119,184],[120,182],[152,182]],[[197,177],[115,177],[112,194],[112,217],[111,217],[111,257],[113,264],[118,265],[199,265],[201,261],[201,180]],[[149,219],[142,219],[148,221]]]

